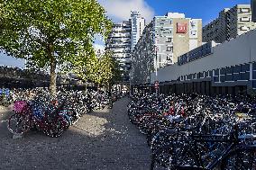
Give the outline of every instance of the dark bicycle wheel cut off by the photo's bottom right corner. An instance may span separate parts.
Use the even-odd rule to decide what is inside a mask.
[[[256,147],[231,151],[221,163],[222,170],[256,170]]]

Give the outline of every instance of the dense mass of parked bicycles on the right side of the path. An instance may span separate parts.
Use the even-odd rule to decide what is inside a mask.
[[[133,94],[128,115],[147,137],[153,169],[256,169],[256,99]]]

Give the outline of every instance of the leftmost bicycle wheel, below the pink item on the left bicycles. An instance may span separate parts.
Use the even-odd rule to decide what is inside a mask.
[[[14,113],[8,119],[7,128],[15,135],[22,135],[24,132],[30,130],[30,124],[25,115]]]

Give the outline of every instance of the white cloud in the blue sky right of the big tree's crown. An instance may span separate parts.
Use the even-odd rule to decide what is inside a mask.
[[[144,0],[98,0],[105,7],[107,15],[114,22],[128,20],[131,11],[139,11],[146,19],[151,22],[154,16],[154,10]]]

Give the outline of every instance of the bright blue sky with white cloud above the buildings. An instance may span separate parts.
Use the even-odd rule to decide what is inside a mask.
[[[107,16],[113,22],[128,20],[131,11],[139,11],[151,22],[154,16],[171,13],[185,13],[187,18],[202,19],[203,25],[213,21],[224,8],[235,4],[250,4],[251,0],[98,0],[105,7]],[[96,49],[104,49],[104,41],[96,36]],[[24,61],[0,54],[0,65],[23,67]]]

